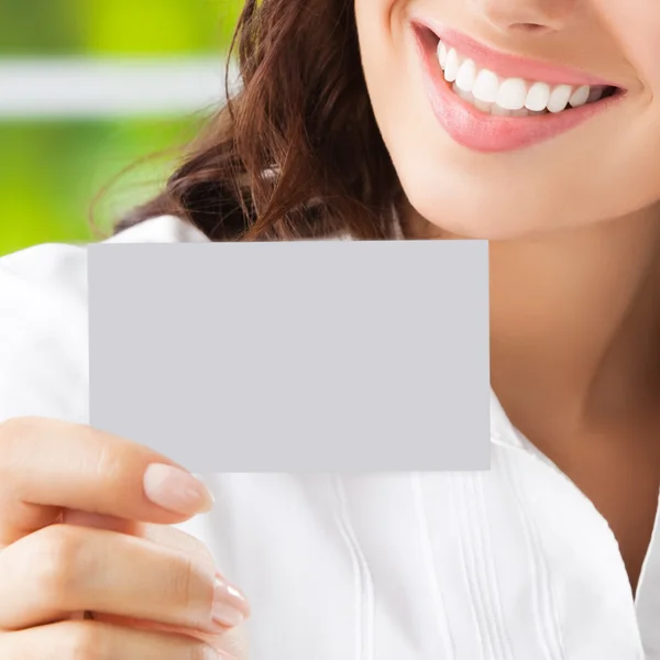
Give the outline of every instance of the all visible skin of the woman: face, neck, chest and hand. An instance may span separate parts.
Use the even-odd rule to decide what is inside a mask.
[[[635,588],[658,497],[660,6],[355,0],[355,10],[409,200],[406,232],[491,240],[494,388],[608,520]],[[470,152],[426,100],[413,10],[495,48],[583,68],[628,98],[543,144]],[[211,626],[208,551],[169,527],[197,510],[145,498],[153,462],[172,465],[87,427],[0,426],[1,658],[190,660],[211,648],[246,658],[241,627]],[[86,609],[96,620],[80,620]]]

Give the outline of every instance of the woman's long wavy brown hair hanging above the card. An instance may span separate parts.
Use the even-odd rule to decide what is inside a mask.
[[[119,222],[177,216],[213,241],[395,234],[400,186],[362,73],[352,0],[246,0],[240,90],[164,190]]]

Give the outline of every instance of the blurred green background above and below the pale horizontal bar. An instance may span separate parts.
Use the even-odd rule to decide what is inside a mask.
[[[241,6],[242,0],[0,0],[0,66],[25,58],[47,64],[217,57],[221,70]],[[11,95],[11,87],[0,76],[0,97]],[[97,230],[89,218],[95,195],[136,160],[185,142],[199,121],[194,112],[172,111],[0,117],[0,255],[108,231],[121,211],[155,191],[174,161],[147,162],[118,178],[95,207]]]

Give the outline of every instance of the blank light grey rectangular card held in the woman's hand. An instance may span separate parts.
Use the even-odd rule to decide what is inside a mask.
[[[88,250],[92,426],[201,473],[490,468],[485,241]]]

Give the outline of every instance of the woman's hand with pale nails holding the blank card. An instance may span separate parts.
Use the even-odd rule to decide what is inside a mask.
[[[0,658],[243,660],[244,596],[166,527],[210,506],[147,448],[53,420],[0,425]]]

